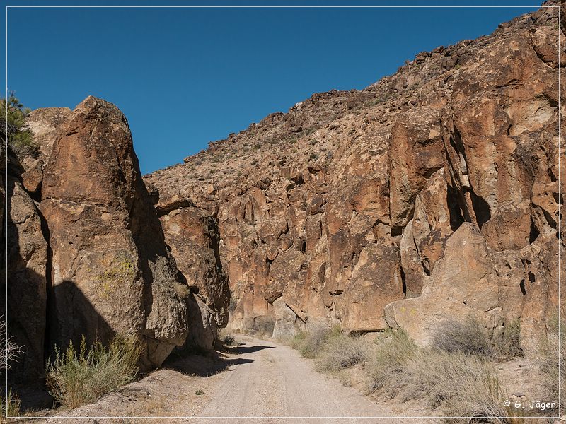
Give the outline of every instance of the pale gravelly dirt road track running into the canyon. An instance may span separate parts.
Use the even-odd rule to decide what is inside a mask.
[[[238,365],[223,373],[219,387],[199,416],[207,417],[347,417],[391,416],[356,389],[344,387],[336,378],[313,370],[313,362],[301,358],[289,346],[271,341],[248,339],[238,346]],[[237,420],[234,422],[247,422]],[[381,420],[363,420],[364,423]],[[387,420],[391,423],[392,420]],[[226,420],[197,420],[199,423],[226,423]],[[304,419],[265,420],[252,423],[302,423]],[[308,423],[340,423],[344,418],[309,419]],[[362,420],[347,420],[348,423]]]

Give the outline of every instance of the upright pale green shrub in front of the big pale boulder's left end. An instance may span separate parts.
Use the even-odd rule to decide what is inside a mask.
[[[404,331],[384,331],[381,337],[376,338],[366,363],[368,391],[382,389],[388,392],[389,397],[395,397],[410,381],[407,363],[415,353],[417,346]]]

